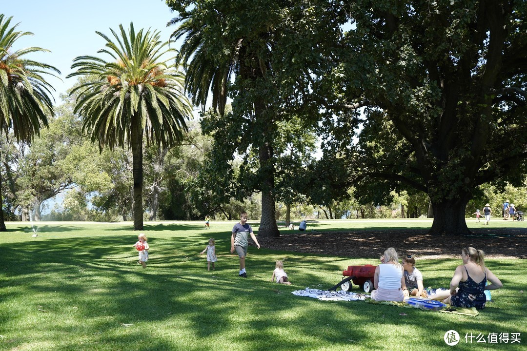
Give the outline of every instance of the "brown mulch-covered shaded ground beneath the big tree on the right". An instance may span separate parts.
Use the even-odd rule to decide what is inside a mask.
[[[344,257],[379,257],[388,247],[401,255],[419,258],[458,257],[461,249],[473,246],[486,257],[527,258],[527,228],[482,228],[471,235],[434,236],[422,229],[281,230],[279,238],[259,237],[260,245],[270,249]]]

